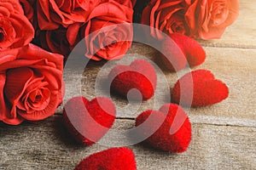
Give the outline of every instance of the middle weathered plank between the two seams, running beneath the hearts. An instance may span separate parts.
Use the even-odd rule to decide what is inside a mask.
[[[230,125],[248,125],[250,127],[256,126],[256,49],[238,49],[238,48],[205,48],[207,51],[207,59],[203,65],[193,68],[207,69],[212,71],[216,78],[225,82],[230,88],[230,96],[223,102],[200,108],[192,108],[189,111],[191,115],[191,122],[197,123],[209,123],[213,124],[230,124]],[[164,74],[161,74],[157,70],[158,85],[155,96],[153,99],[149,99],[143,102],[142,105],[130,104],[126,99],[121,98],[118,95],[112,95],[112,99],[117,106],[119,117],[135,118],[140,112],[148,109],[158,110],[161,105],[170,102],[170,90],[169,87],[173,87],[177,82],[177,74],[166,70],[161,63],[158,52],[153,48],[149,48],[140,43],[134,43],[128,55],[125,56],[125,63],[129,63],[135,58],[138,58],[137,54],[143,55],[145,59],[151,59],[153,63],[156,63]],[[136,56],[136,57],[135,57]],[[119,62],[119,61],[118,61]],[[104,66],[105,65],[105,66]],[[106,67],[106,65],[109,65]],[[82,94],[88,99],[92,99],[96,96],[108,96],[109,88],[106,89],[106,82],[104,82],[109,71],[116,65],[116,61],[106,62],[91,62],[86,66],[84,70],[84,77],[81,81]],[[157,68],[157,66],[155,66]],[[185,71],[179,71],[180,75],[183,75]],[[101,72],[101,74],[99,74]],[[73,94],[72,84],[73,79],[78,80],[81,75],[70,73],[67,75],[67,88],[66,100],[70,99]],[[96,85],[96,79],[100,80]],[[79,79],[81,80],[81,78]],[[69,88],[71,87],[71,88]],[[77,86],[79,87],[79,85]],[[169,96],[169,97],[168,97]],[[154,100],[155,99],[155,100]],[[126,110],[124,109],[125,107]],[[125,111],[124,111],[125,110]],[[61,112],[61,109],[58,110]],[[232,118],[236,118],[232,120]]]

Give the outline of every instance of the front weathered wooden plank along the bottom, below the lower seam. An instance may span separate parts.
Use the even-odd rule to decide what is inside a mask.
[[[113,129],[133,127],[116,120]],[[256,129],[192,125],[193,138],[183,154],[168,154],[143,144],[130,146],[137,169],[254,169]],[[0,169],[73,169],[81,159],[108,146],[83,147],[67,134],[61,115],[17,127],[0,124]],[[115,141],[113,141],[115,142]]]

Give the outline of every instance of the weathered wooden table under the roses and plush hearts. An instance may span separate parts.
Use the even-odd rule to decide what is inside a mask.
[[[169,154],[143,144],[129,146],[136,155],[137,169],[256,169],[255,8],[256,1],[241,0],[240,16],[223,37],[201,41],[207,60],[194,70],[212,71],[229,86],[229,98],[189,111],[193,137],[183,154]],[[157,52],[140,43],[133,43],[129,54],[157,60]],[[88,99],[95,97],[96,75],[104,64],[92,62],[84,70],[83,95]],[[172,87],[177,75],[164,73]],[[120,107],[126,105],[125,99],[117,96],[113,101]],[[137,113],[151,105],[151,100],[143,103]],[[20,126],[0,123],[0,169],[73,169],[85,156],[108,148],[74,143],[63,126],[61,107],[42,122]],[[119,115],[113,129],[133,127],[136,115]]]

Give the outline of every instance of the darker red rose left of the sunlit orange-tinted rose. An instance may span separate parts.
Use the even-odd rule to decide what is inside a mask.
[[[143,9],[142,24],[151,26],[170,35],[173,32],[189,35],[184,14],[189,1],[151,0]],[[151,36],[161,39],[160,34],[152,29]]]

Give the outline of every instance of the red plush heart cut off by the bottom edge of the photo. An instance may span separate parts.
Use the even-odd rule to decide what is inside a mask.
[[[111,148],[84,158],[74,170],[136,170],[133,152],[128,148]]]

